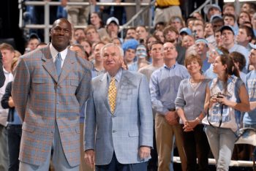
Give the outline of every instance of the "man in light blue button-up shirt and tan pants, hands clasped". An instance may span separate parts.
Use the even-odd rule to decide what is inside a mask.
[[[178,124],[175,110],[175,99],[181,80],[189,77],[189,73],[185,66],[176,62],[178,53],[173,43],[165,42],[163,49],[165,65],[153,72],[149,83],[152,107],[157,111],[155,131],[159,156],[158,170],[169,170],[174,136],[181,157],[182,170],[186,170],[187,159],[184,153],[182,129]]]

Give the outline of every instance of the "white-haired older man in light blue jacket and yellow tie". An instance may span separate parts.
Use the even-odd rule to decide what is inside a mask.
[[[153,145],[146,77],[121,69],[124,52],[117,45],[102,47],[101,56],[107,73],[92,82],[86,106],[85,160],[96,170],[146,170]],[[114,110],[108,99],[112,77],[117,89]]]

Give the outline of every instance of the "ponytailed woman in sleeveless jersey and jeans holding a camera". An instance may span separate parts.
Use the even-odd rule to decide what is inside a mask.
[[[213,64],[218,75],[206,88],[205,131],[217,170],[228,170],[240,128],[241,112],[249,110],[249,98],[243,81],[239,78],[233,59],[217,56]]]

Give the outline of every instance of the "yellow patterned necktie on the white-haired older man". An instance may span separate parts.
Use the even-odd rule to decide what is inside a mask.
[[[113,114],[116,108],[116,78],[112,77],[110,80],[110,86],[108,88],[108,101],[110,104],[110,110]]]

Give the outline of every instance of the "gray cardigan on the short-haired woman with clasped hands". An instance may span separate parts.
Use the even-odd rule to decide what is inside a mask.
[[[205,78],[194,90],[189,79],[181,81],[178,87],[178,94],[175,100],[176,110],[181,108],[188,121],[197,118],[203,112],[203,105],[206,99],[206,86],[210,79]],[[180,123],[182,123],[180,119]]]

